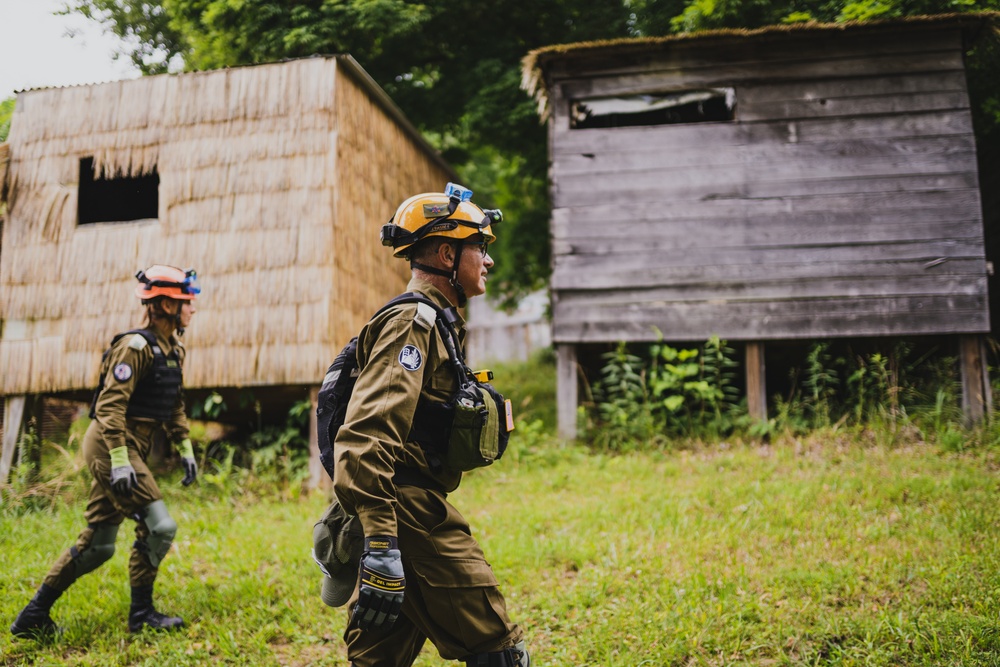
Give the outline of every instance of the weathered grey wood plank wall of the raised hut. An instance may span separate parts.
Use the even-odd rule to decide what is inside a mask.
[[[956,27],[720,38],[547,67],[556,343],[989,330]],[[736,120],[570,129],[703,87]]]

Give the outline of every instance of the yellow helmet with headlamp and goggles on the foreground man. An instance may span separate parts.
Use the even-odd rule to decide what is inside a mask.
[[[463,240],[477,234],[496,241],[491,225],[503,221],[500,209],[473,204],[472,190],[449,183],[444,193],[425,192],[410,197],[382,225],[382,245],[392,246],[395,257],[407,257],[418,241],[432,236]]]

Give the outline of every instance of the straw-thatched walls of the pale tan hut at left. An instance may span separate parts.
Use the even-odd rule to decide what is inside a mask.
[[[22,93],[9,145],[0,395],[93,386],[153,263],[201,278],[189,387],[316,384],[405,284],[380,225],[448,179],[345,57]],[[78,225],[84,157],[96,175],[155,170],[157,219]]]

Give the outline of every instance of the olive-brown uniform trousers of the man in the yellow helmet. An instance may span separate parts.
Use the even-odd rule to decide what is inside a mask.
[[[347,655],[354,667],[408,667],[430,639],[441,657],[461,660],[514,646],[503,595],[468,522],[444,494],[396,488],[399,550],[406,575],[402,614],[389,629],[348,624]],[[348,613],[358,600],[355,590]]]

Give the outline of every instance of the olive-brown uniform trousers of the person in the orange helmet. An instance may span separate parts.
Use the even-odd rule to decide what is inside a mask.
[[[74,554],[86,550],[94,536],[94,525],[110,523],[120,525],[125,517],[135,519],[139,510],[150,503],[162,500],[163,494],[153,479],[153,474],[146,466],[146,457],[152,450],[153,437],[156,431],[162,429],[158,424],[135,422],[129,420],[126,442],[128,444],[129,463],[135,468],[138,487],[133,489],[130,498],[122,498],[111,490],[111,460],[107,448],[97,434],[96,422],[91,422],[83,437],[83,455],[87,467],[93,476],[90,484],[90,499],[84,518],[87,527],[77,537],[76,544],[67,549],[55,562],[45,577],[45,585],[57,591],[64,591],[76,581],[76,566]],[[135,538],[132,553],[129,556],[129,581],[133,587],[149,586],[156,580],[157,568],[149,562],[149,558],[141,547],[149,537],[149,529],[143,521],[136,521]]]

